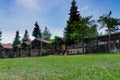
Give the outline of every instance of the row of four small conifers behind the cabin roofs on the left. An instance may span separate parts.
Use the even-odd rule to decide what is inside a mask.
[[[51,34],[50,30],[48,30],[47,27],[45,27],[45,29],[42,32],[37,22],[35,22],[34,26],[35,27],[34,27],[33,32],[32,32],[32,36],[34,38],[50,40],[52,34]],[[21,37],[19,35],[19,31],[16,31],[16,35],[15,35],[15,38],[13,41],[13,46],[19,45],[22,42],[31,42],[31,39],[29,37],[29,33],[27,30],[25,30],[25,33],[24,33],[22,40],[20,38]]]

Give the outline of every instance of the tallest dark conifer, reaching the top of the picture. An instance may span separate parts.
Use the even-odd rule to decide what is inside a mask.
[[[69,20],[67,21],[67,26],[64,29],[64,38],[67,45],[74,43],[74,40],[70,36],[71,34],[73,34],[73,30],[70,25],[72,25],[74,22],[79,22],[81,18],[78,11],[78,7],[76,6],[76,1],[73,0],[71,5],[72,6],[70,8]]]

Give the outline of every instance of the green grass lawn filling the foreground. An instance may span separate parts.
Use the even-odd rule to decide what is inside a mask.
[[[120,54],[0,59],[0,80],[120,80]]]

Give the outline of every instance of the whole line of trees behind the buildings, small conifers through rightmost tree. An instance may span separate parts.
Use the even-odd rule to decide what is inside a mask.
[[[35,28],[32,32],[32,36],[39,39],[51,40],[52,46],[56,46],[64,42],[68,46],[71,44],[81,44],[84,47],[84,41],[86,38],[96,38],[99,36],[97,29],[106,28],[106,32],[109,35],[108,42],[110,42],[111,33],[118,32],[120,26],[120,19],[114,18],[111,15],[112,11],[100,16],[97,21],[92,19],[93,15],[87,17],[81,16],[76,5],[76,1],[72,0],[69,19],[67,20],[67,25],[64,28],[63,38],[55,36],[54,39],[51,40],[50,38],[52,34],[50,30],[45,27],[45,30],[42,32],[37,22],[34,25]],[[22,42],[24,41],[31,41],[27,30],[25,30],[24,37],[22,39]],[[19,31],[16,31],[13,45],[20,43]]]

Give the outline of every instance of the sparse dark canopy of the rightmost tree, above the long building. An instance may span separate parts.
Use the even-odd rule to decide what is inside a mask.
[[[98,19],[98,23],[101,25],[100,28],[107,28],[108,33],[116,32],[119,30],[120,19],[111,17],[112,12],[109,14],[102,15]]]

